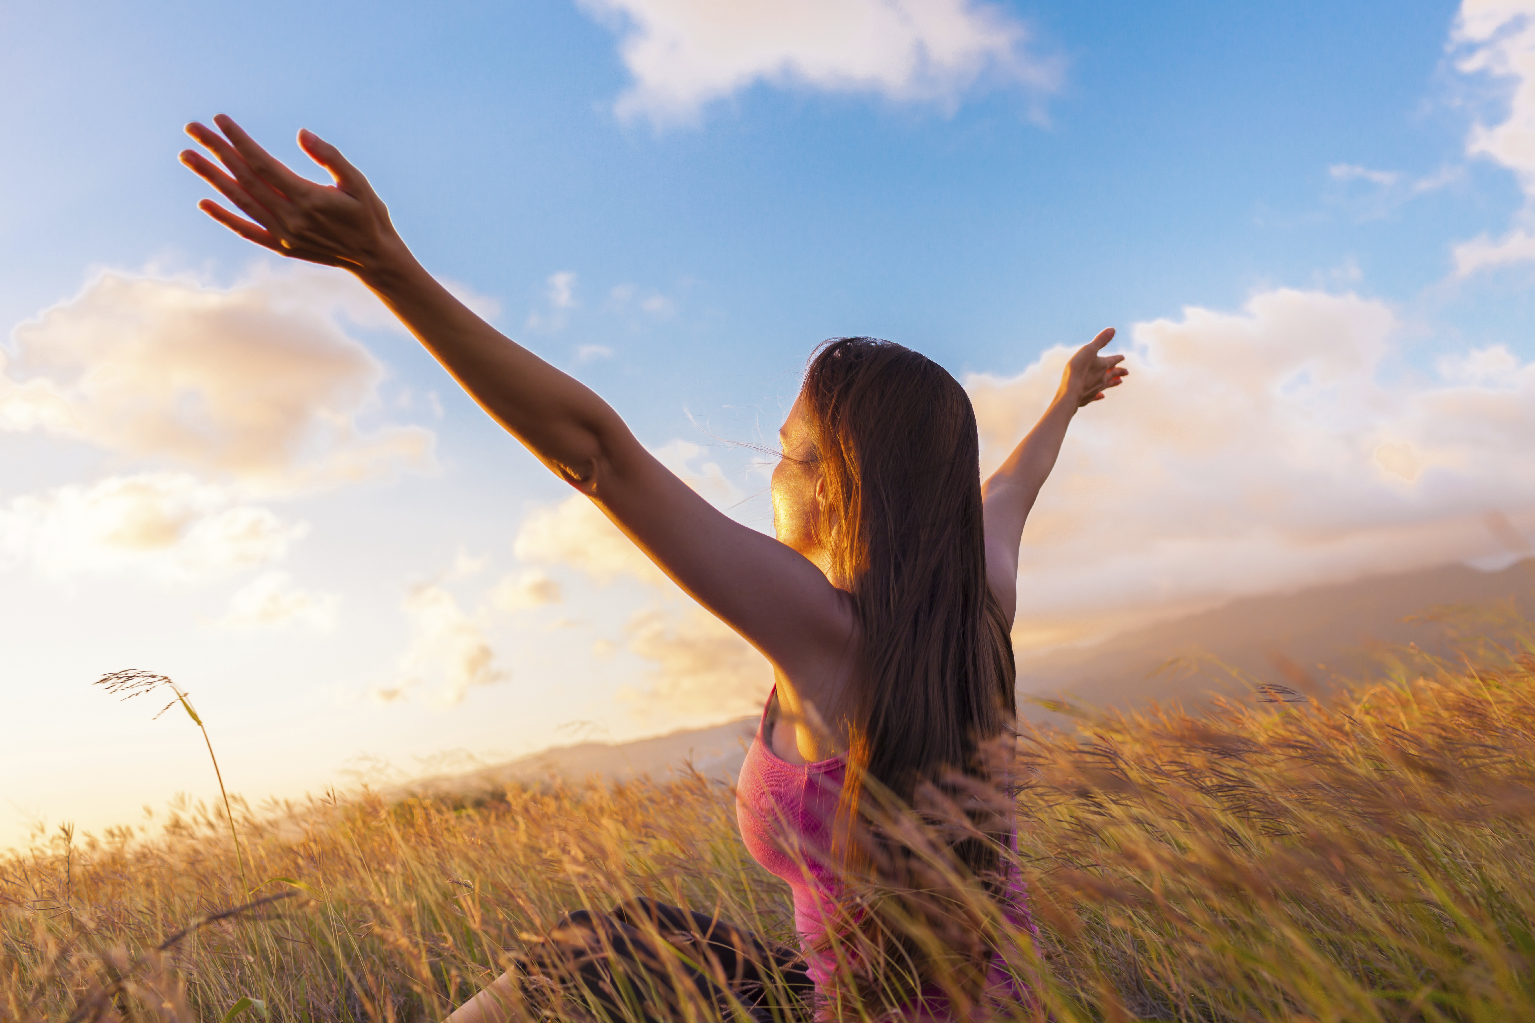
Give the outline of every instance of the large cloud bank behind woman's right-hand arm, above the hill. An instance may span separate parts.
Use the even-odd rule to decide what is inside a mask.
[[[1535,363],[1492,347],[1424,379],[1397,333],[1380,302],[1292,290],[1139,324],[1128,385],[1076,419],[1030,517],[1019,640],[1527,549]],[[967,380],[990,465],[1068,354]]]

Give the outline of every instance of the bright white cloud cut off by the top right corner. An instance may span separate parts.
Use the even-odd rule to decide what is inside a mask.
[[[1455,247],[1460,275],[1535,259],[1535,0],[1464,0],[1452,46],[1457,67],[1506,86],[1501,120],[1477,123],[1467,141],[1472,156],[1512,170],[1526,207],[1503,238],[1481,236]]]

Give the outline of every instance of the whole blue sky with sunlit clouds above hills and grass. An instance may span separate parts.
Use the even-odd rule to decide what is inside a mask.
[[[89,687],[118,667],[189,687],[253,801],[760,699],[365,294],[196,213],[187,120],[341,146],[430,268],[764,529],[748,445],[815,342],[938,359],[998,457],[1121,327],[1145,387],[1025,537],[1027,649],[1535,535],[1532,18],[0,9],[0,844],[210,791],[184,722]]]

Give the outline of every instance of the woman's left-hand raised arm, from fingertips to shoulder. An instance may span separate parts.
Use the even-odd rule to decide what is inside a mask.
[[[209,216],[282,256],[355,273],[487,413],[787,676],[817,673],[827,652],[846,646],[850,610],[815,564],[721,514],[586,385],[453,298],[335,146],[299,132],[299,146],[335,179],[322,186],[282,166],[233,120],[221,115],[215,124],[223,133],[203,124],[187,133],[218,164],[195,150],[181,161],[246,216],[203,199]]]

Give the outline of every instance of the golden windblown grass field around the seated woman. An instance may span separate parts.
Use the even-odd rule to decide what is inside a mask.
[[[1016,1017],[1535,1018],[1532,653],[1025,732],[1041,937],[1008,957],[1038,992]],[[433,1020],[563,913],[634,894],[792,940],[698,776],[241,807],[249,897],[221,804],[0,860],[0,1018]]]

